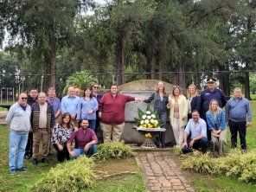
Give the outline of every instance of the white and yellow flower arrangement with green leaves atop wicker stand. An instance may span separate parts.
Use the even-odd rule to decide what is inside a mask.
[[[161,129],[164,123],[159,118],[157,111],[154,111],[150,106],[147,106],[146,112],[138,108],[138,118],[134,118],[138,125],[137,131],[144,134],[146,138],[157,136],[157,129]]]

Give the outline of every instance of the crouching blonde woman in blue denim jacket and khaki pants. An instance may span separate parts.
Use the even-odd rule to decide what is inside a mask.
[[[224,154],[224,148],[227,140],[227,125],[225,123],[225,114],[219,107],[218,101],[212,99],[209,104],[209,111],[206,113],[207,124],[211,130],[211,138],[214,144],[214,155],[221,157]]]

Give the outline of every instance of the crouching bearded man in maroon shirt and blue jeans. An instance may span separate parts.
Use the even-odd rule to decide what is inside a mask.
[[[92,129],[88,129],[89,121],[82,119],[81,128],[74,131],[71,137],[67,140],[67,150],[70,158],[77,158],[82,154],[88,157],[93,156],[97,151],[98,138]],[[71,150],[71,143],[75,141],[74,150]]]

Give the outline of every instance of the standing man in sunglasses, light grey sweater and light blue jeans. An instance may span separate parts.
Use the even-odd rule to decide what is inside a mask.
[[[25,149],[29,137],[31,114],[31,108],[27,104],[27,100],[27,94],[21,93],[19,95],[18,102],[10,106],[10,110],[5,118],[7,124],[10,125],[10,175],[15,175],[16,170],[20,170],[22,172],[28,171],[23,167],[23,157],[25,155]]]

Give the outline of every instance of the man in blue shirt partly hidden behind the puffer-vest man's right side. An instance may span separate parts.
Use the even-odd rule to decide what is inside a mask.
[[[54,108],[54,118],[55,118],[55,123],[58,122],[58,119],[61,114],[61,101],[60,99],[55,97],[55,88],[54,87],[49,87],[48,89],[48,97],[46,99],[49,101],[50,105]],[[51,138],[51,133],[50,133],[50,138]],[[49,144],[48,147],[48,156],[52,156],[54,152],[54,146],[52,144]]]

